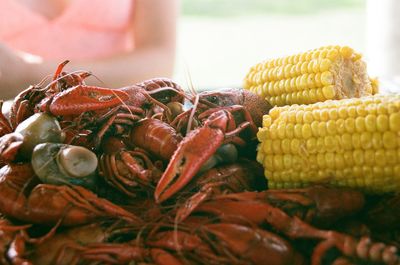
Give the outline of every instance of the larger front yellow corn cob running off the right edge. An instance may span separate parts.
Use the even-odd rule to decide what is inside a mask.
[[[275,107],[257,137],[270,188],[400,191],[400,94]]]

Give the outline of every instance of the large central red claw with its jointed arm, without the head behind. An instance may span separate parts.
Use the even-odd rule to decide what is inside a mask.
[[[241,124],[234,121],[232,111],[243,111],[243,107],[227,108],[211,113],[202,127],[191,131],[179,143],[156,187],[156,201],[162,202],[182,189],[223,144],[245,145],[237,136],[240,132],[250,128],[255,136],[257,129],[252,121]]]

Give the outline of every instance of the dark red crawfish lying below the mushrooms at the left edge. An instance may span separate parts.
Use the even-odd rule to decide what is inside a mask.
[[[0,169],[0,195],[0,212],[31,223],[78,225],[113,217],[142,222],[83,187],[39,184],[30,164]]]

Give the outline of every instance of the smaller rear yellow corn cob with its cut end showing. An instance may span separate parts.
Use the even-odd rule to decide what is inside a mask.
[[[250,69],[243,86],[273,106],[361,97],[372,92],[366,64],[347,46],[327,46],[261,62]]]

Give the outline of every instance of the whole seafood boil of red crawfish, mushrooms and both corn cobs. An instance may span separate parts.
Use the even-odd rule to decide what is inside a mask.
[[[0,264],[400,264],[400,97],[349,49],[205,92],[61,63],[0,114]]]

